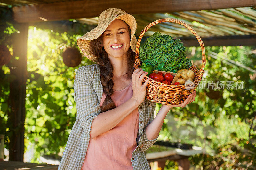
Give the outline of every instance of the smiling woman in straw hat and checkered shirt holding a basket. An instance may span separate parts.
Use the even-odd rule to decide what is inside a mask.
[[[195,93],[180,105],[163,104],[154,118],[156,103],[145,99],[149,78],[142,84],[147,72],[133,71],[136,27],[132,15],[110,8],[77,39],[97,64],[76,72],[77,119],[59,169],[150,169],[144,151],[155,143],[168,111],[194,101]]]

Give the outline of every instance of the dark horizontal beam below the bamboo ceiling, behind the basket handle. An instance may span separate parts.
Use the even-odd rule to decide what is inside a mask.
[[[148,37],[143,37],[140,44],[143,44]],[[138,37],[137,37],[138,39]],[[180,37],[184,46],[200,46],[195,37]],[[204,46],[255,46],[256,35],[232,35],[201,38]]]

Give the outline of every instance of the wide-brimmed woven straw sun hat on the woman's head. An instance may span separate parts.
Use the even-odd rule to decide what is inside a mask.
[[[79,37],[76,41],[78,47],[82,50],[84,55],[89,60],[92,60],[93,62],[97,61],[97,56],[92,55],[90,53],[90,49],[89,49],[90,40],[97,39],[98,37],[100,37],[100,35],[106,30],[108,25],[111,24],[111,22],[114,21],[115,19],[121,19],[130,26],[130,29],[131,29],[130,46],[132,51],[135,52],[136,44],[137,44],[137,39],[134,35],[137,28],[137,23],[135,18],[132,15],[127,14],[124,10],[121,10],[118,8],[108,8],[107,10],[100,13],[100,16],[98,18],[98,25],[91,31],[84,34],[82,37]]]

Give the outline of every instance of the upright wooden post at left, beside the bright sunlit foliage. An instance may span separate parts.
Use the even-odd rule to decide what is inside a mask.
[[[8,121],[11,124],[9,160],[22,161],[24,155],[24,122],[26,116],[25,97],[27,81],[27,43],[28,43],[28,23],[15,23],[14,28],[19,31],[13,38],[13,56],[19,60],[12,60],[10,83],[9,113]]]

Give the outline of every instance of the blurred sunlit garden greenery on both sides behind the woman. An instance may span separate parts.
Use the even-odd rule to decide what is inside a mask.
[[[10,53],[10,61],[0,66],[0,134],[4,134],[5,154],[12,147],[13,134],[21,130],[19,125],[14,127],[11,119],[10,83],[15,80],[11,70],[20,58],[13,55],[19,30],[9,7],[0,8],[0,55],[6,53],[6,48]],[[165,16],[177,18],[172,14]],[[256,22],[255,16],[246,19]],[[187,22],[209,30],[207,24],[189,19]],[[61,159],[76,120],[73,93],[76,71],[83,65],[94,64],[80,53],[76,39],[94,27],[95,24],[75,19],[28,26],[24,162],[42,163],[51,159],[54,164]],[[137,38],[143,28],[138,27]],[[252,28],[255,30],[255,24]],[[245,33],[249,34],[253,33]],[[79,65],[64,64],[63,54],[68,48],[79,50],[77,55],[82,57]],[[158,140],[201,147],[202,154],[189,157],[195,169],[256,169],[256,44],[205,46],[205,50],[206,66],[196,100],[184,108],[170,110]],[[198,44],[187,47],[186,55],[201,68],[202,51]],[[224,88],[218,82],[223,82]],[[160,107],[157,103],[155,114]],[[178,164],[166,161],[164,169],[178,169]]]

